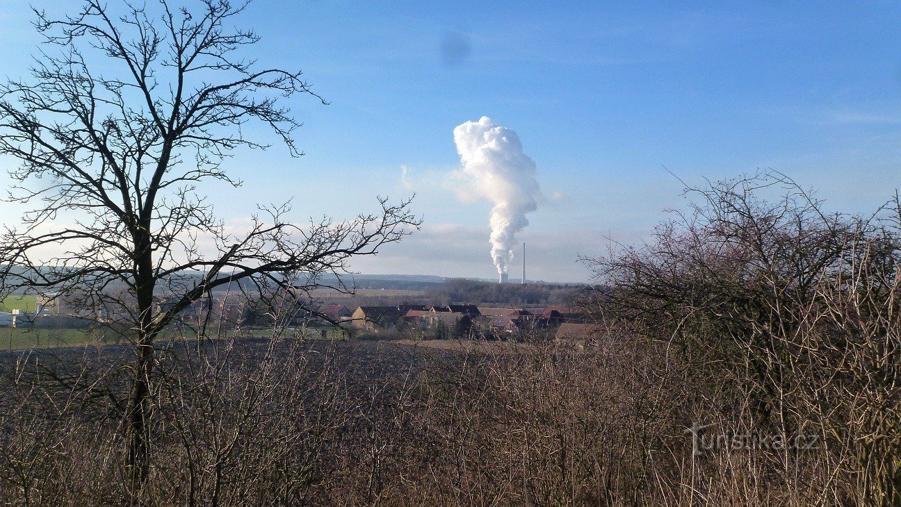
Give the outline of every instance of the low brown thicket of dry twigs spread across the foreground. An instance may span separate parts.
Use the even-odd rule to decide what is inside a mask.
[[[159,422],[140,493],[111,401],[127,356],[59,358],[52,379],[32,360],[4,379],[20,395],[0,414],[0,493],[37,504],[628,504],[649,490],[651,449],[686,440],[674,400],[634,376],[647,359],[610,345],[173,344],[153,383]],[[88,375],[98,361],[110,366]]]

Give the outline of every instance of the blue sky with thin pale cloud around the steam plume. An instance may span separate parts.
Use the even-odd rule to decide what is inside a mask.
[[[415,191],[423,231],[356,267],[491,277],[490,204],[447,185],[453,128],[487,115],[557,194],[521,234],[530,277],[556,281],[586,279],[579,254],[641,240],[685,204],[663,167],[688,182],[772,167],[848,212],[893,195],[901,4],[724,4],[257,0],[241,23],[263,37],[261,64],[303,69],[331,104],[290,104],[305,157],[240,153],[245,186],[208,194],[240,224],[258,202],[348,217]],[[27,68],[31,19],[27,2],[0,7],[0,75]]]

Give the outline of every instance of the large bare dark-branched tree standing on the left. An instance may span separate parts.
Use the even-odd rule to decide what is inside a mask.
[[[31,77],[0,86],[0,153],[21,162],[8,197],[31,206],[20,227],[5,228],[0,276],[5,293],[77,298],[80,308],[103,309],[134,331],[124,426],[140,487],[153,343],[179,312],[241,281],[300,298],[323,274],[346,272],[351,257],[375,254],[419,221],[409,201],[379,199],[380,213],[305,226],[289,222],[282,205],[260,207],[245,234],[226,233],[197,187],[240,186],[223,160],[235,149],[267,148],[245,137],[248,123],[301,155],[299,123],[282,100],[322,98],[300,72],[241,57],[259,41],[232,28],[247,2],[114,4],[86,0],[62,19],[36,11],[46,44]]]

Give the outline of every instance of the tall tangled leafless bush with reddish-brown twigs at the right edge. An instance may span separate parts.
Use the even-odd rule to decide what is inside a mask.
[[[776,201],[760,196],[774,191]],[[703,394],[692,421],[814,435],[819,448],[758,449],[742,484],[717,457],[686,475],[689,496],[742,498],[750,481],[766,496],[744,502],[901,503],[901,206],[828,214],[773,173],[691,192],[694,213],[655,241],[590,259],[605,291],[589,306],[666,344]]]

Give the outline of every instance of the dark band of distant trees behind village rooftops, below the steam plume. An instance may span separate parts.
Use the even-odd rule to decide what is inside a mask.
[[[586,285],[498,284],[453,278],[428,288],[428,299],[437,303],[499,303],[518,305],[566,304],[587,289]]]

